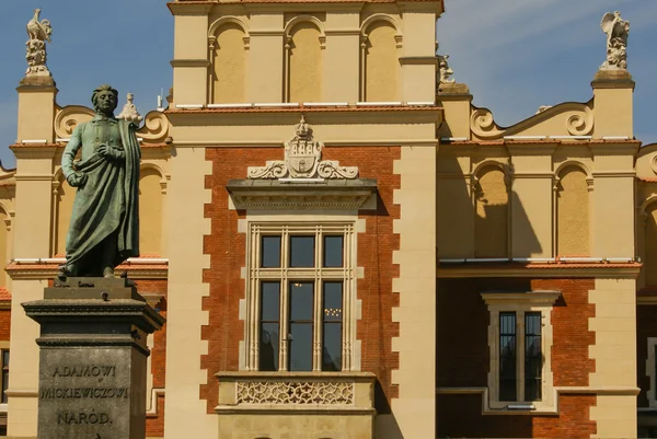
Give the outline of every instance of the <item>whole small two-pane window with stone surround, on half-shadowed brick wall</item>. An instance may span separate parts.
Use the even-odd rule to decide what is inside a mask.
[[[484,292],[488,305],[491,408],[554,407],[552,307],[558,291]]]

